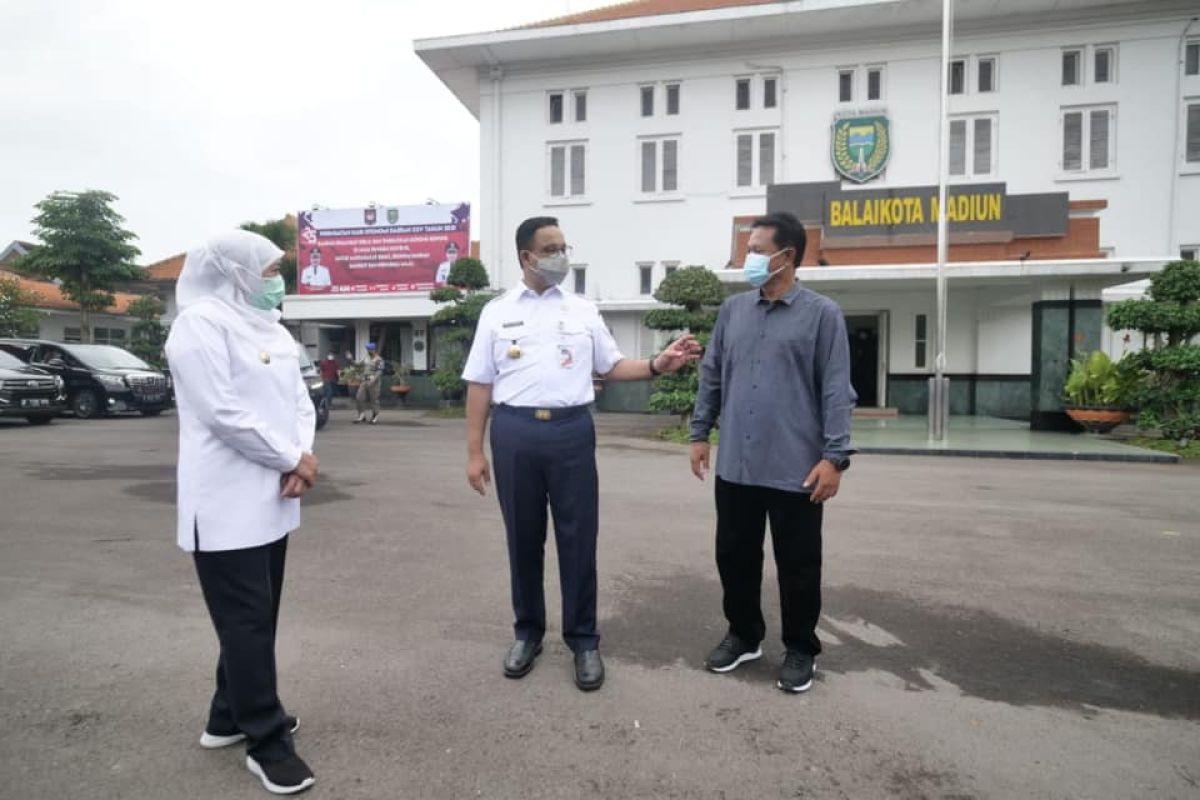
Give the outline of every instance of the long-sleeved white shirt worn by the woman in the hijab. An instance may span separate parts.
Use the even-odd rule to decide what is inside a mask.
[[[292,335],[251,330],[222,303],[198,302],[172,324],[167,360],[179,408],[179,546],[242,549],[295,530],[300,500],[280,495],[281,477],[312,451],[316,414]]]

